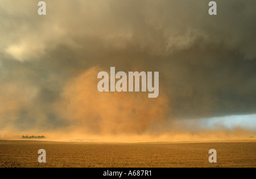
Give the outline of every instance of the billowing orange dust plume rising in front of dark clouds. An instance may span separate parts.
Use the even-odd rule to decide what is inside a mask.
[[[68,82],[60,106],[63,118],[89,134],[142,134],[162,126],[169,113],[168,98],[150,100],[146,93],[100,93],[93,67]],[[64,106],[63,106],[64,104]]]

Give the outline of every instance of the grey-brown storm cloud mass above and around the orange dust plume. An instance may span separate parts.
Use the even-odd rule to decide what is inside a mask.
[[[1,126],[67,126],[56,103],[93,66],[159,71],[170,118],[256,113],[256,3],[216,2],[1,1]]]

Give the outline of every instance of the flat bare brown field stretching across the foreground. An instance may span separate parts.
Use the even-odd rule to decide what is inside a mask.
[[[209,163],[209,149],[217,163]],[[38,150],[46,163],[38,163]],[[0,167],[256,167],[256,140],[196,143],[0,141]]]

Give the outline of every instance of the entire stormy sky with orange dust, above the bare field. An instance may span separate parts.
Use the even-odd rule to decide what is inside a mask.
[[[0,1],[1,136],[255,136],[254,0],[38,2]],[[100,93],[111,66],[159,72],[159,97]]]

